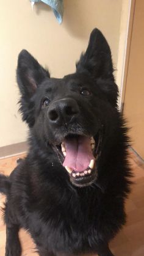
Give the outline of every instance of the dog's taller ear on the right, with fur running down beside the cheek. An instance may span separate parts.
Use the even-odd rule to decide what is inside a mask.
[[[90,34],[87,51],[81,55],[76,64],[77,73],[88,73],[93,79],[98,79],[101,90],[112,106],[117,106],[118,87],[113,77],[112,57],[109,45],[104,35],[98,29]]]

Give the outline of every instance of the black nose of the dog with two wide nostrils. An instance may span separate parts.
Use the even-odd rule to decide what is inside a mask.
[[[56,125],[64,122],[70,122],[71,118],[79,113],[79,106],[72,98],[63,98],[54,101],[48,109],[49,122]]]

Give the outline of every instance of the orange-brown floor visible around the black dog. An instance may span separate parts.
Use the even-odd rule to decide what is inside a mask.
[[[11,158],[0,159],[0,172],[9,175],[16,165],[16,159],[22,156],[13,156]],[[130,162],[134,172],[135,184],[132,187],[131,195],[126,201],[126,212],[128,222],[124,229],[110,243],[115,256],[143,256],[144,255],[144,167],[140,160],[132,153]],[[4,196],[0,197],[1,205],[4,202]],[[34,244],[30,236],[21,230],[21,243],[23,246],[23,256],[36,256]],[[0,221],[0,255],[4,256],[5,251],[5,226],[2,219]]]

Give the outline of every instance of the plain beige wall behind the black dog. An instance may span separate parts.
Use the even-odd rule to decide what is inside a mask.
[[[127,1],[127,0],[126,0]],[[18,53],[25,48],[52,76],[75,69],[94,27],[106,36],[117,68],[122,0],[64,0],[63,23],[51,9],[29,0],[2,1],[0,8],[0,147],[26,140],[27,128],[18,114],[15,69]]]

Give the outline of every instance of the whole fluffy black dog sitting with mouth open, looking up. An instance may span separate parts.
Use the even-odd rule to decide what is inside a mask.
[[[17,81],[30,147],[10,177],[0,178],[5,255],[21,255],[20,228],[41,256],[112,255],[108,243],[125,223],[131,171],[106,39],[94,29],[76,73],[62,79],[23,50]]]

